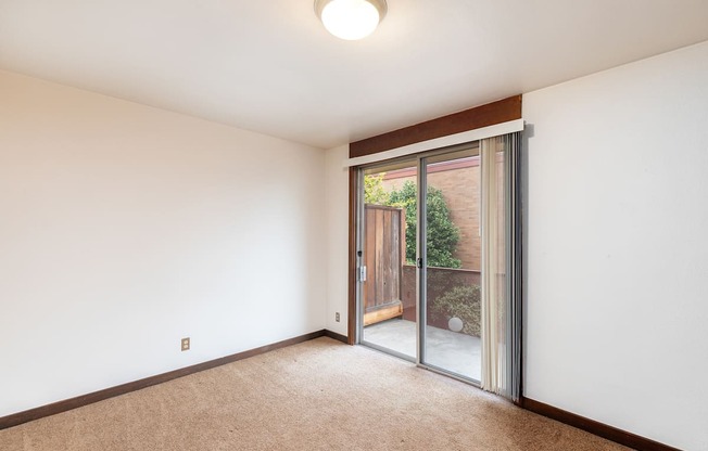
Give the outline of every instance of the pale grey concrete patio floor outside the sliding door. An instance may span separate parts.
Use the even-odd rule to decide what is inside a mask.
[[[479,337],[427,326],[426,361],[441,370],[478,381],[482,347]],[[364,342],[416,358],[416,323],[393,319],[364,327]]]

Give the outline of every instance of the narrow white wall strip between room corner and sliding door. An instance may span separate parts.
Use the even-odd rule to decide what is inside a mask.
[[[349,145],[327,151],[327,328],[346,335],[349,306]],[[340,313],[340,322],[334,321]]]

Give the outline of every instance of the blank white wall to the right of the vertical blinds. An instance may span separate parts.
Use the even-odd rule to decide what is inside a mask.
[[[708,42],[523,95],[526,396],[708,450]]]

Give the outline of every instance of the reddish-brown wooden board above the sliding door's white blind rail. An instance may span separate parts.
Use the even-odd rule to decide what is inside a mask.
[[[417,142],[447,137],[521,118],[521,95],[513,95],[485,105],[350,143],[349,156],[356,158]]]

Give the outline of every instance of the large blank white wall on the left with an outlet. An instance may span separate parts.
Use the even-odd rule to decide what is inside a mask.
[[[324,186],[323,150],[0,72],[0,416],[324,328]]]

